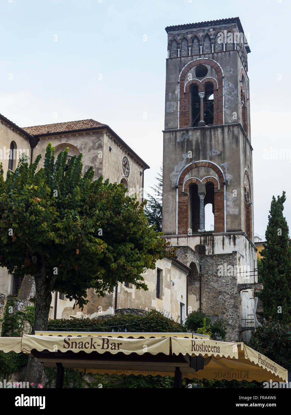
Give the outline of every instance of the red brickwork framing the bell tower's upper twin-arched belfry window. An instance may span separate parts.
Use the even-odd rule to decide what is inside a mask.
[[[213,66],[217,73],[218,89],[216,88],[216,83],[213,83],[213,79],[206,78],[201,83],[193,80],[193,82],[188,82],[185,88],[185,76],[189,69],[197,65],[210,65]],[[183,69],[180,76],[180,114],[179,114],[179,127],[187,128],[191,127],[190,125],[190,86],[193,83],[198,85],[198,91],[204,91],[205,82],[213,83],[213,107],[214,107],[214,124],[223,124],[223,74],[220,69],[220,66],[211,61],[210,59],[196,59],[194,62],[188,63],[188,65]]]

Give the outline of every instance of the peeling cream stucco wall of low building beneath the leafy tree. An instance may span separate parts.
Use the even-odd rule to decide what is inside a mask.
[[[119,283],[117,288],[117,309],[130,308],[140,310],[159,310],[175,320],[180,318],[180,303],[184,304],[183,321],[186,319],[186,295],[188,269],[175,260],[162,259],[156,263],[155,270],[148,269],[142,274],[148,290],[137,290],[132,284],[126,287]],[[157,269],[160,270],[160,295],[157,298]],[[174,283],[174,284],[173,284]],[[54,295],[51,301],[51,315],[54,315]],[[57,318],[81,317],[94,318],[101,315],[110,315],[115,311],[115,291],[107,293],[105,297],[98,297],[93,289],[88,290],[87,305],[80,310],[74,307],[74,302],[68,299],[57,303]]]

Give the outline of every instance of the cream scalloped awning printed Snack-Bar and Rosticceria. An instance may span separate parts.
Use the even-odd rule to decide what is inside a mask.
[[[242,342],[218,342],[196,333],[43,333],[0,337],[0,350],[31,353],[44,366],[58,367],[58,374],[73,368],[93,374],[169,375],[175,376],[175,385],[182,378],[288,381],[286,369]]]

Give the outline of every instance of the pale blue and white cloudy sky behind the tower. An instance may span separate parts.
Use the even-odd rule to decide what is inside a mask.
[[[254,232],[286,191],[291,233],[290,0],[0,0],[0,113],[20,127],[93,118],[162,163],[166,26],[240,17],[251,49]],[[284,151],[287,150],[287,151]]]

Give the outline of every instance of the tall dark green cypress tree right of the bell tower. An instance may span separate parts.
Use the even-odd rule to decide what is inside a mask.
[[[273,196],[266,244],[262,251],[260,275],[264,281],[259,293],[264,306],[264,317],[291,322],[291,249],[288,244],[289,228],[283,216],[285,192]]]

